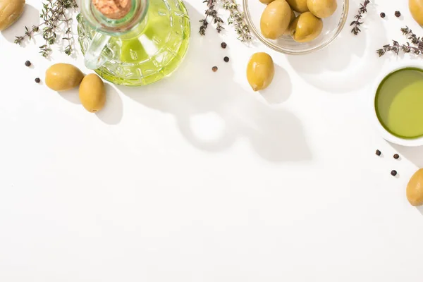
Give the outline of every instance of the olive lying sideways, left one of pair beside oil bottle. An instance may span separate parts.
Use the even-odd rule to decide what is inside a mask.
[[[46,71],[46,85],[54,91],[71,90],[84,78],[79,68],[68,63],[56,63]]]

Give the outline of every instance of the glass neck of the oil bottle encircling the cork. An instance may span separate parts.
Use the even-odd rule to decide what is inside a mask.
[[[106,35],[125,35],[133,30],[140,30],[145,25],[149,0],[128,0],[128,7],[115,13],[105,13],[99,8],[102,0],[82,0],[82,16],[92,28]]]

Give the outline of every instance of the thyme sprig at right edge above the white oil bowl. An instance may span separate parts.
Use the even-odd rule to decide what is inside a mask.
[[[407,39],[415,46],[412,46],[410,42],[400,44],[398,41],[392,40],[392,44],[386,44],[381,49],[376,50],[377,54],[379,54],[379,57],[384,56],[384,54],[389,51],[397,55],[400,54],[400,51],[403,51],[404,53],[413,53],[416,55],[423,54],[422,38],[417,37],[417,35],[415,35],[415,33],[413,33],[409,27],[403,27],[401,28],[401,31],[403,32],[403,35],[407,36]]]

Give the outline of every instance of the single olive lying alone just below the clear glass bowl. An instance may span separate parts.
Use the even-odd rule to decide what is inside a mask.
[[[278,1],[278,0],[276,0]],[[252,90],[259,91],[268,87],[275,75],[273,59],[266,53],[256,53],[247,65],[247,80]]]

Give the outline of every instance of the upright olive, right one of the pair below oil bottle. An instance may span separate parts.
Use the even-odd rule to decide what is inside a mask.
[[[103,109],[106,103],[106,87],[98,75],[85,76],[80,85],[80,101],[87,111],[95,113]]]

